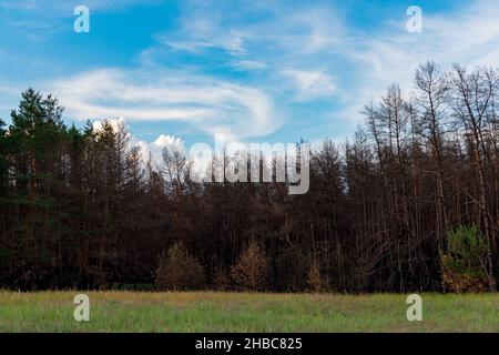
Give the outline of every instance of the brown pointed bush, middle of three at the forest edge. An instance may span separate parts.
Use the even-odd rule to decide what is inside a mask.
[[[268,263],[255,242],[247,248],[231,268],[231,277],[235,284],[245,291],[259,291],[265,288],[268,276]]]

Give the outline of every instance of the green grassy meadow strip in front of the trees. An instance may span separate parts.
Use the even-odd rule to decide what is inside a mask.
[[[422,294],[408,322],[405,295],[0,292],[0,332],[499,332],[499,295]]]

